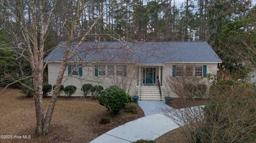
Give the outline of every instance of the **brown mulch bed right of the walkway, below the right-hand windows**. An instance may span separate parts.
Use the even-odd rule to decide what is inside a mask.
[[[186,99],[182,100],[180,98],[172,98],[172,103],[168,104],[169,106],[179,109],[186,108],[191,106],[200,106],[205,105],[207,103],[206,99]]]

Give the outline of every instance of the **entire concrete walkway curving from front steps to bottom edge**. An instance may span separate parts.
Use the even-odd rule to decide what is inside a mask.
[[[91,143],[127,143],[140,139],[155,140],[164,133],[179,128],[179,125],[175,124],[173,120],[159,113],[161,108],[173,109],[163,102],[145,100],[139,102],[139,105],[145,112],[145,117],[120,125],[102,134]]]

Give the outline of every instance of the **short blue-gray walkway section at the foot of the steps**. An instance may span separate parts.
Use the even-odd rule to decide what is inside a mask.
[[[166,105],[164,102],[154,100],[139,101],[139,106],[142,108],[145,116],[161,113],[163,110],[174,110],[174,108]]]

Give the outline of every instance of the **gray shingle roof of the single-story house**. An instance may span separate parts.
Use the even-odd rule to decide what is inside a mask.
[[[73,43],[71,51],[77,42]],[[61,61],[67,43],[61,41],[44,62]],[[168,42],[83,42],[75,51],[73,61],[135,62],[164,64],[165,62],[222,62],[206,41]],[[69,54],[70,55],[70,54]]]

